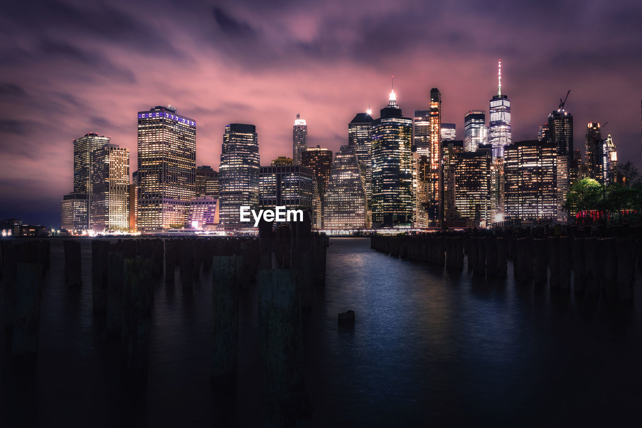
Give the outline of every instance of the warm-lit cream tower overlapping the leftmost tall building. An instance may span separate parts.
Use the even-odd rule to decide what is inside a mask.
[[[129,150],[116,144],[96,150],[91,175],[91,228],[128,231]]]

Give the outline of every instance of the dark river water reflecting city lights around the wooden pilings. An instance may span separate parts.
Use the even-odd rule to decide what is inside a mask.
[[[642,408],[642,290],[633,303],[551,294],[479,280],[333,239],[325,289],[304,324],[304,426],[638,425]],[[121,388],[117,355],[94,332],[91,248],[82,290],[68,290],[52,245],[35,378],[10,370],[0,341],[0,427],[211,427],[211,274],[192,292],[180,278],[155,290],[144,391]],[[639,275],[638,275],[639,276]],[[354,330],[337,328],[354,309]],[[0,311],[2,306],[0,305]],[[260,425],[256,287],[241,296],[240,426]],[[1,330],[1,329],[0,329]],[[4,335],[4,331],[0,331]]]

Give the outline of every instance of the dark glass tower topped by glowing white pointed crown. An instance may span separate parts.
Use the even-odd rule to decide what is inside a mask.
[[[419,152],[419,150],[417,150]],[[402,116],[392,91],[372,121],[372,223],[410,225],[413,218],[412,120]]]

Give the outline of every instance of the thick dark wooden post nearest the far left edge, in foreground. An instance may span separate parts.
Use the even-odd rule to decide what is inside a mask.
[[[12,355],[19,364],[31,366],[38,355],[42,269],[39,263],[16,267]]]

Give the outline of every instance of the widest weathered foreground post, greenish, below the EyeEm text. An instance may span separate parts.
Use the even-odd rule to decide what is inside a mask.
[[[258,273],[263,421],[293,427],[311,416],[305,393],[299,290],[290,269]]]

